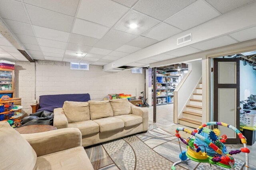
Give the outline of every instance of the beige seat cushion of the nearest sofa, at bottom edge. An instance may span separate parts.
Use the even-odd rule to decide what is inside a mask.
[[[83,147],[39,156],[34,170],[93,170]]]

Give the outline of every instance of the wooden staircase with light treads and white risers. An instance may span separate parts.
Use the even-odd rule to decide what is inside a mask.
[[[202,83],[198,84],[179,118],[179,124],[198,128],[202,125]]]

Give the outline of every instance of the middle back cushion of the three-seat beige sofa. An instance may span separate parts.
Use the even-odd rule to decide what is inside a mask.
[[[108,100],[89,101],[91,119],[100,119],[113,116],[113,110]]]

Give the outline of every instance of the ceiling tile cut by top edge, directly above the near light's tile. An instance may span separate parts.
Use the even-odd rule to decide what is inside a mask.
[[[143,14],[165,20],[196,0],[139,0],[133,7]]]

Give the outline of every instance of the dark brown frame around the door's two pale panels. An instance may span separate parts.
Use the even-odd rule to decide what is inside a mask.
[[[224,59],[224,60],[223,60]],[[218,62],[236,62],[236,84],[218,84]],[[236,107],[240,106],[240,59],[238,58],[219,58],[213,59],[213,121],[218,121],[218,89],[219,88],[236,88]],[[236,127],[240,129],[240,111],[236,109]],[[224,122],[226,123],[226,122]],[[214,125],[214,128],[218,128],[217,125]],[[228,139],[228,144],[239,143],[239,137],[236,135],[236,138]]]

